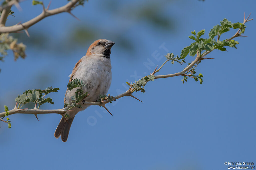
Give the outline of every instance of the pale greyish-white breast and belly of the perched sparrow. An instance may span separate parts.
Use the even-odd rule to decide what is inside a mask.
[[[73,75],[73,79],[80,79],[86,85],[83,87],[84,92],[90,94],[85,101],[95,101],[99,95],[106,94],[111,84],[111,63],[110,59],[102,56],[83,56],[82,61],[78,64],[78,69]],[[71,102],[71,96],[75,94],[76,89],[68,90],[65,96],[65,103]],[[78,112],[86,109],[73,108]],[[76,114],[75,113],[75,114]],[[75,115],[74,114],[74,115]],[[70,115],[70,117],[73,117]]]

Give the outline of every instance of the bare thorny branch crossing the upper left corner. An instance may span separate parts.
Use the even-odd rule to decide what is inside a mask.
[[[37,22],[41,21],[42,19],[49,17],[51,15],[56,15],[59,14],[61,12],[68,12],[71,13],[70,11],[72,10],[72,7],[74,7],[76,5],[76,3],[79,2],[79,0],[71,0],[69,3],[67,3],[66,5],[56,8],[56,9],[52,9],[52,10],[48,10],[47,8],[45,8],[43,6],[43,11],[40,15],[38,15],[37,17],[24,22],[21,24],[16,24],[13,26],[9,26],[9,27],[5,27],[5,26],[1,26],[0,25],[0,33],[6,33],[6,32],[17,32],[20,30],[26,30],[29,27],[31,27],[32,25],[36,24]],[[1,17],[2,18],[2,17]]]

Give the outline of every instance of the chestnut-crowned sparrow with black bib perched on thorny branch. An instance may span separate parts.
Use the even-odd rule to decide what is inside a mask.
[[[88,48],[86,55],[76,63],[76,66],[70,74],[69,82],[73,79],[80,79],[85,83],[83,91],[87,91],[88,94],[90,94],[84,99],[85,101],[95,101],[99,99],[99,95],[108,92],[111,84],[110,53],[111,47],[114,44],[113,41],[105,39],[94,41]],[[71,103],[71,96],[75,95],[76,90],[77,88],[72,90],[67,89],[64,97],[65,103]],[[68,120],[64,117],[61,118],[54,136],[56,138],[61,136],[61,140],[66,142],[75,115],[88,107],[89,105],[75,107],[72,108],[73,111],[67,112],[70,118]]]

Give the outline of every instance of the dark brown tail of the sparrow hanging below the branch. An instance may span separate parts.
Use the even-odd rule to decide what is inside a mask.
[[[59,138],[61,136],[61,140],[66,142],[68,140],[68,134],[73,122],[74,117],[70,118],[69,120],[65,120],[64,117],[61,118],[59,125],[57,126],[54,136]]]

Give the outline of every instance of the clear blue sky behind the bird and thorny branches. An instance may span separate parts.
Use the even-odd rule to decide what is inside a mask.
[[[255,1],[150,1],[158,4],[155,14],[166,19],[156,25],[146,16],[138,17],[147,1],[91,1],[69,14],[59,14],[29,28],[38,44],[27,44],[25,59],[13,61],[13,55],[0,63],[0,108],[13,108],[15,98],[27,89],[60,88],[51,94],[54,105],[63,107],[68,75],[76,62],[85,55],[92,40],[71,41],[75,28],[96,30],[92,38],[114,41],[112,48],[113,96],[125,91],[125,82],[133,82],[153,72],[165,61],[154,54],[165,55],[159,48],[164,43],[169,53],[180,51],[192,41],[193,30],[209,30],[223,18],[242,22],[243,14],[252,12]],[[50,9],[66,1],[52,1]],[[45,1],[48,4],[48,1]],[[40,14],[41,6],[31,1],[15,7],[15,18],[7,25],[26,22]],[[110,7],[111,6],[111,7]],[[167,21],[168,19],[168,21]],[[166,25],[165,25],[166,24]],[[0,144],[3,169],[227,169],[224,162],[255,162],[255,21],[247,24],[244,35],[236,41],[238,49],[211,52],[197,67],[203,84],[183,77],[157,79],[146,85],[146,93],[134,93],[143,103],[123,97],[108,104],[113,117],[98,106],[80,112],[73,121],[66,143],[54,138],[61,119],[58,114],[15,114],[9,116],[12,128],[1,123]],[[235,33],[231,30],[221,39]],[[25,33],[24,33],[25,34]],[[23,36],[23,35],[22,35]],[[45,37],[45,38],[44,38]],[[30,41],[23,37],[23,40]],[[43,42],[40,44],[40,42]],[[36,44],[36,45],[35,45]],[[146,68],[150,59],[155,66]],[[187,63],[194,57],[186,57]],[[170,74],[184,68],[167,63],[157,73]],[[31,106],[33,107],[33,106]],[[256,162],[255,162],[256,163]]]

